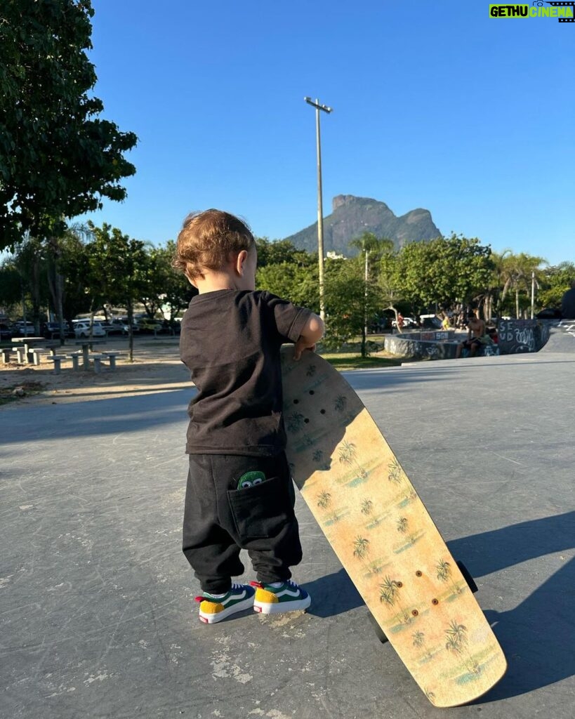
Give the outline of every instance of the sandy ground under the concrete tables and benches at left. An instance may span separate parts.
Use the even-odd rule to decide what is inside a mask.
[[[57,352],[65,354],[72,349],[77,348],[63,347]],[[100,374],[93,370],[74,371],[68,361],[62,363],[56,375],[52,363],[45,359],[38,367],[17,362],[0,365],[0,393],[11,393],[18,386],[23,386],[25,392],[23,397],[0,406],[0,411],[13,406],[126,397],[192,386],[190,373],[179,359],[177,337],[138,337],[134,340],[133,362],[129,362],[127,339],[110,338],[97,349],[124,353],[116,358],[116,370],[106,367]]]

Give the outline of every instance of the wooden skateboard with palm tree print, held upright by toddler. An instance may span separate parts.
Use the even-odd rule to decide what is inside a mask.
[[[380,429],[340,373],[282,348],[293,480],[377,626],[436,707],[471,702],[507,667],[473,595]]]

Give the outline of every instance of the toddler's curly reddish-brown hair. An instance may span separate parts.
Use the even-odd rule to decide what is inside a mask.
[[[172,265],[195,280],[203,277],[204,270],[221,270],[233,255],[254,243],[252,230],[235,215],[216,209],[192,212],[178,234]]]

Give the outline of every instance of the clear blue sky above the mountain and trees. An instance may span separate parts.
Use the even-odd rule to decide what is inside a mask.
[[[339,194],[443,234],[575,261],[575,23],[483,0],[93,0],[96,95],[135,132],[124,203],[91,215],[162,244],[192,210],[278,239]]]

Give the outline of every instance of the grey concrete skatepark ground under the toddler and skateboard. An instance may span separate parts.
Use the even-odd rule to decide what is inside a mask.
[[[509,661],[494,690],[451,710],[377,641],[300,498],[308,613],[198,621],[180,553],[191,390],[2,408],[0,717],[572,718],[568,335],[538,354],[346,375],[477,580]]]

